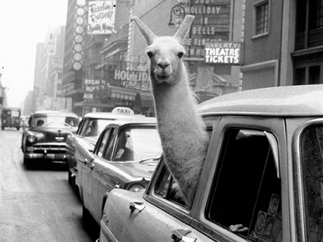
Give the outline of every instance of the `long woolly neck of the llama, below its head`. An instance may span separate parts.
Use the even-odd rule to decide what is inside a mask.
[[[185,70],[176,84],[153,84],[152,87],[166,164],[190,205],[208,147],[205,125],[197,113]]]

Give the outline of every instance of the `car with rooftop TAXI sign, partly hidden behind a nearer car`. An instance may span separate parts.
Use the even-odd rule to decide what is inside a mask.
[[[120,109],[123,108],[120,107]],[[67,136],[67,163],[69,167],[68,182],[74,189],[75,178],[78,173],[78,166],[74,157],[75,150],[80,149],[80,146],[82,146],[81,149],[86,148],[92,152],[99,135],[112,120],[131,117],[134,116],[107,112],[88,113],[84,115],[82,121],[79,123],[76,134],[70,134]]]

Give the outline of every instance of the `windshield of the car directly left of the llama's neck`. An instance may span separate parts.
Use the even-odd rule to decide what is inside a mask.
[[[114,161],[139,161],[161,155],[158,131],[154,127],[132,127],[120,131]]]

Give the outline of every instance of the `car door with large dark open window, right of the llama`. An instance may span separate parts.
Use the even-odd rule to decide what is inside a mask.
[[[224,116],[209,151],[192,227],[216,241],[290,241],[284,119]]]

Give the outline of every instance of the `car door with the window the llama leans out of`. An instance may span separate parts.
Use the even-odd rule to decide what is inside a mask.
[[[191,210],[171,192],[173,181],[163,161],[156,172],[154,185],[150,185],[153,188],[144,196],[143,192],[121,189],[109,194],[103,222],[108,221],[106,225],[117,241],[177,241],[180,235],[183,241],[213,241],[189,225]]]

